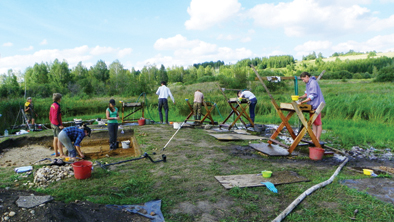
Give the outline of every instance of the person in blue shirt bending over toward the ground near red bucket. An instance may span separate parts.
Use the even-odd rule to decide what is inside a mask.
[[[85,136],[90,137],[91,132],[92,130],[86,125],[83,125],[80,128],[77,126],[66,127],[59,133],[59,148],[63,149],[62,145],[65,146],[68,150],[68,156],[71,157],[71,160],[76,159],[77,152],[81,158],[84,158],[85,156],[81,151],[80,144]]]

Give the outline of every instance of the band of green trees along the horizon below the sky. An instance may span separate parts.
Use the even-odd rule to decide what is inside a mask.
[[[254,81],[256,75],[251,70],[254,65],[262,76],[299,76],[307,71],[318,75],[326,70],[323,79],[369,79],[376,81],[394,81],[394,58],[379,57],[359,60],[340,60],[324,62],[321,57],[313,61],[296,63],[291,55],[248,58],[236,64],[226,65],[224,61],[204,62],[183,66],[157,68],[155,65],[144,66],[141,70],[125,69],[115,60],[109,66],[99,60],[89,68],[79,62],[70,68],[67,61],[55,59],[50,63],[36,63],[28,67],[22,82],[17,74],[8,70],[1,75],[0,97],[15,98],[27,96],[47,98],[54,92],[64,95],[79,96],[134,96],[141,92],[151,93],[161,81],[168,83],[193,84],[219,81],[230,88],[246,88],[248,81]]]

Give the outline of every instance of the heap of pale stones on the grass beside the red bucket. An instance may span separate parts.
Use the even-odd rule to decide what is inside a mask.
[[[74,171],[71,165],[65,166],[45,166],[37,170],[34,175],[33,183],[29,183],[30,187],[47,187],[50,183],[59,181],[61,179],[70,178],[74,176]]]

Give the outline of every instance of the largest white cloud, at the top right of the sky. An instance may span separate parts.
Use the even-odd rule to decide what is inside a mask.
[[[376,31],[394,27],[394,15],[380,19],[366,7],[371,1],[328,2],[325,0],[294,0],[278,4],[259,4],[247,13],[257,26],[282,28],[287,36],[306,34],[337,35],[345,32]],[[358,3],[358,4],[356,4]]]

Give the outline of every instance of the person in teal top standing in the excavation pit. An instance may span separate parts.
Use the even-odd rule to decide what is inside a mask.
[[[118,139],[118,119],[119,113],[118,108],[115,107],[115,100],[109,101],[109,107],[105,111],[107,116],[107,125],[109,133],[109,149],[114,150],[117,148],[116,141]]]

